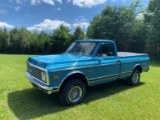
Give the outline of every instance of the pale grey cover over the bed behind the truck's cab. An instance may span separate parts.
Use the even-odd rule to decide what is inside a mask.
[[[145,56],[147,54],[143,53],[132,53],[132,52],[117,52],[118,57],[135,57],[135,56]]]

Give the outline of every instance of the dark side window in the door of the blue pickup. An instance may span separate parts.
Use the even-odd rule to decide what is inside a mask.
[[[107,56],[115,56],[114,46],[112,43],[102,43],[97,56],[102,56],[102,54],[106,54]]]

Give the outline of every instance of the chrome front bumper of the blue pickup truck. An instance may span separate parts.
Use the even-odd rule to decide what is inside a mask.
[[[37,80],[35,80],[28,72],[26,72],[26,76],[30,80],[31,84],[36,87],[37,89],[47,93],[47,94],[52,94],[53,92],[58,92],[58,88],[55,87],[49,87],[47,85],[44,85]]]

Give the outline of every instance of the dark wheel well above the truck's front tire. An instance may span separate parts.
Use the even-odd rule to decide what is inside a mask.
[[[65,82],[67,82],[67,81],[69,81],[69,80],[71,80],[71,79],[79,79],[79,80],[81,80],[82,82],[84,82],[86,86],[88,86],[87,78],[86,78],[83,74],[80,74],[80,73],[75,73],[75,74],[72,74],[72,75],[68,76],[68,77],[63,81],[62,85],[63,85]]]

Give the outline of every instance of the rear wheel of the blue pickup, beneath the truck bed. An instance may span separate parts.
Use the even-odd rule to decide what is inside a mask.
[[[130,77],[127,78],[127,84],[130,86],[138,85],[140,81],[140,71],[138,69],[133,70]]]

